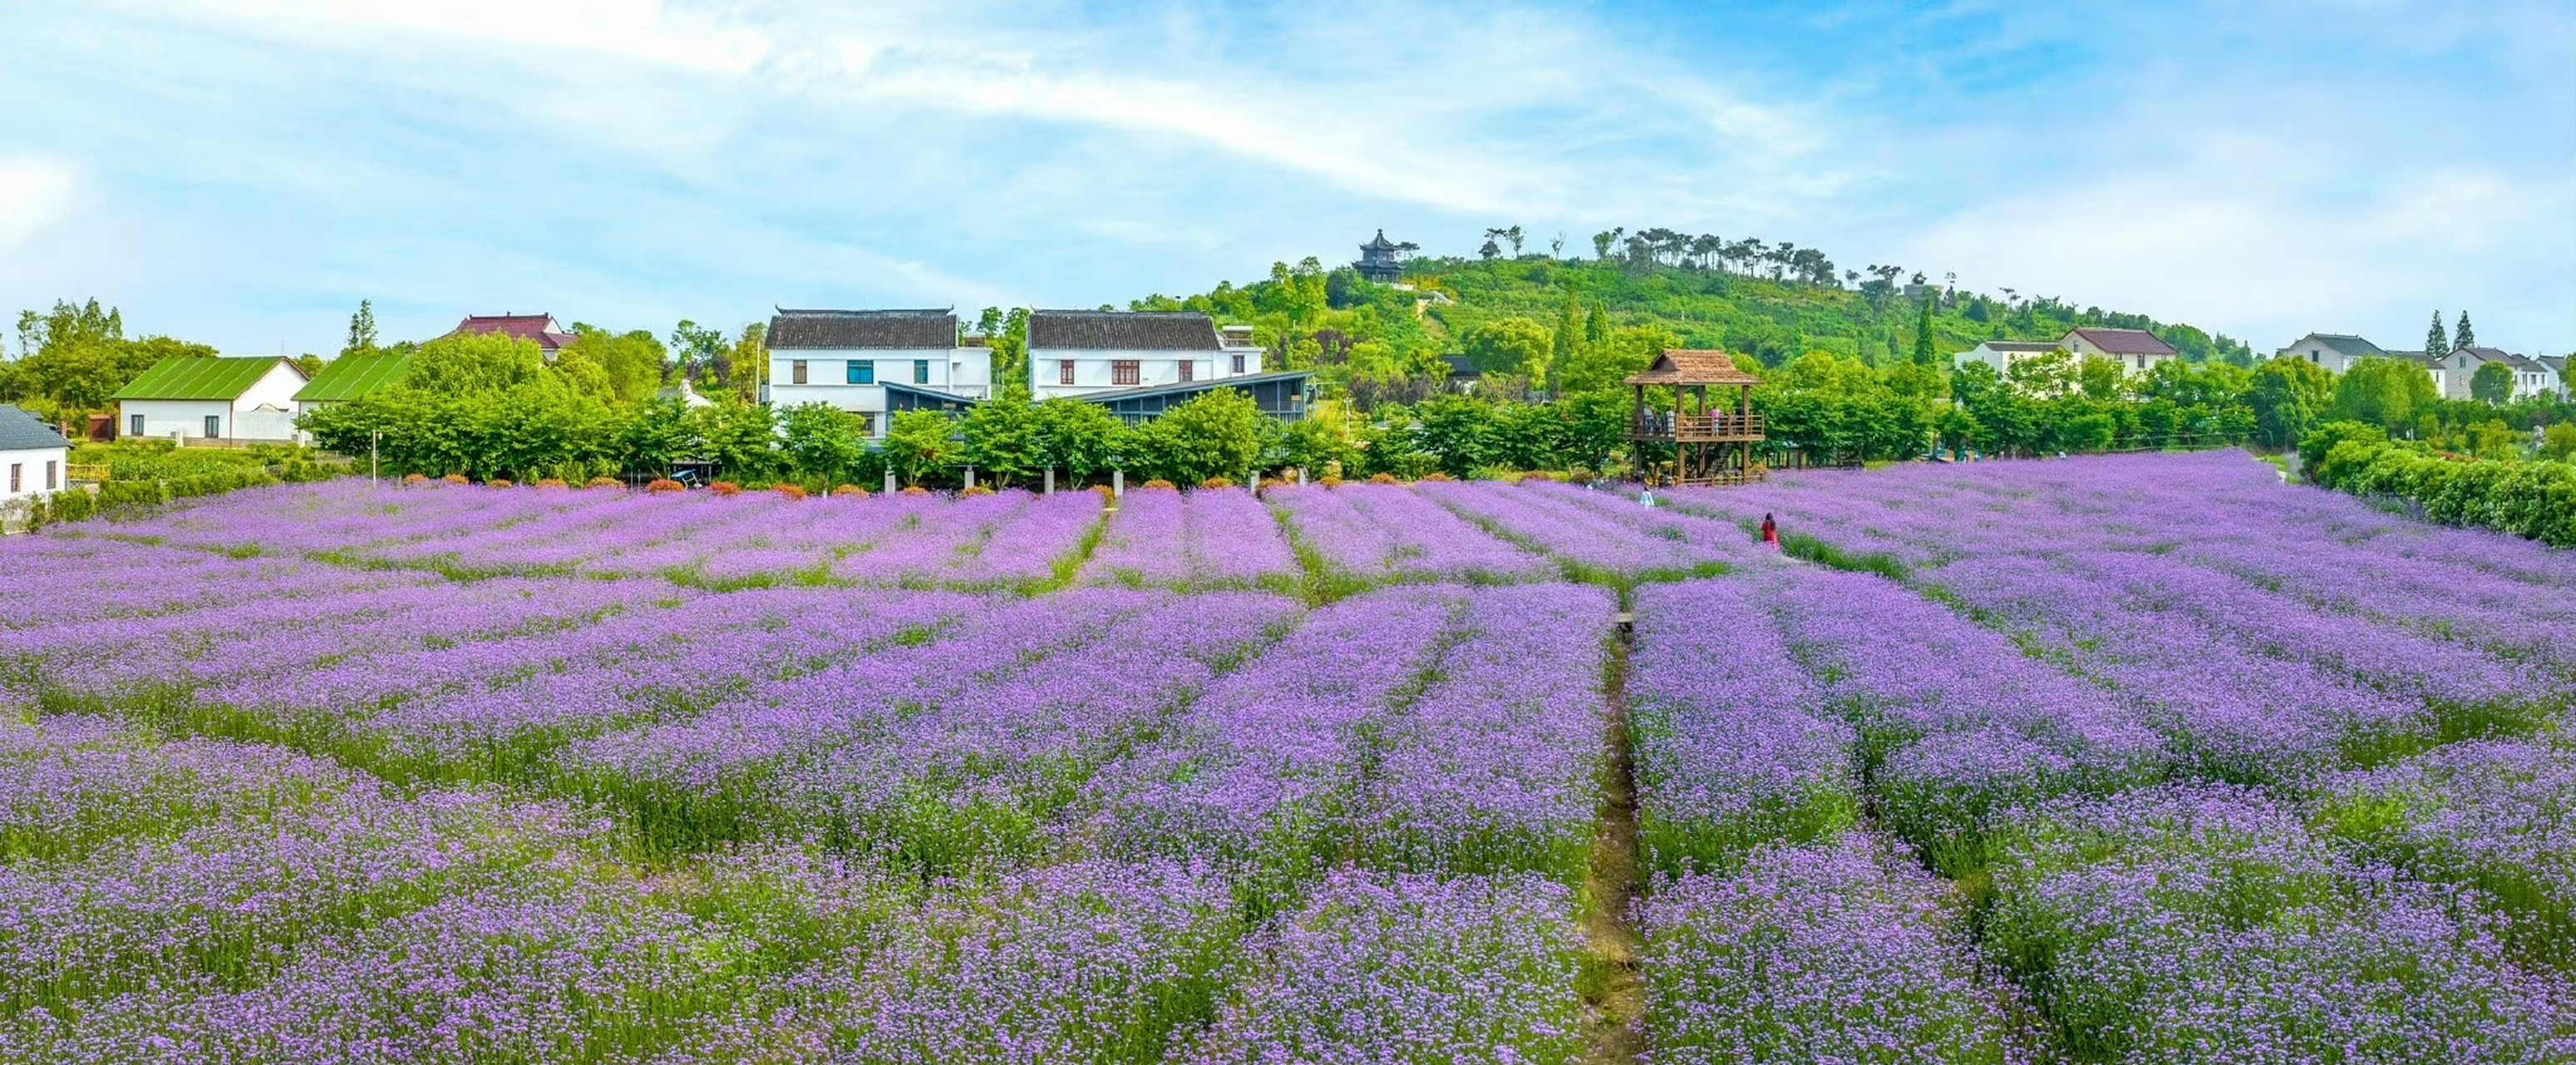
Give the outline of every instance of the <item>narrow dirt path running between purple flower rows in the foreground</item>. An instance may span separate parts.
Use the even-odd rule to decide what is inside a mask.
[[[1592,869],[1584,877],[1584,1006],[1592,1016],[1592,1065],[1636,1065],[1646,1050],[1638,1016],[1646,1008],[1636,960],[1641,939],[1631,921],[1638,895],[1636,756],[1628,746],[1628,651],[1636,635],[1620,617],[1607,666],[1602,738],[1610,749],[1602,808],[1592,831]]]

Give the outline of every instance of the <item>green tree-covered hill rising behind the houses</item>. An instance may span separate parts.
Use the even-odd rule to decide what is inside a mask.
[[[2254,352],[2226,334],[2146,314],[2069,306],[2045,296],[1958,293],[1901,268],[1837,273],[1832,260],[1795,244],[1739,250],[1718,239],[1628,237],[1625,255],[1566,260],[1556,255],[1419,257],[1404,280],[1376,286],[1350,268],[1316,260],[1275,265],[1270,278],[1208,293],[1146,296],[1139,311],[1208,311],[1260,327],[1288,368],[1316,368],[1329,391],[1352,381],[1363,399],[1391,378],[1437,373],[1443,355],[1463,355],[1486,373],[1551,381],[1582,345],[1620,329],[1651,329],[1687,347],[1721,347],[1765,365],[1806,352],[1857,358],[1868,365],[1935,363],[1981,340],[2058,340],[2074,327],[2148,329],[2192,363],[2251,365]],[[1502,237],[1502,232],[1497,232]],[[1620,234],[1600,234],[1613,247]],[[1672,234],[1680,237],[1680,234]],[[1734,255],[1744,252],[1744,255]],[[1924,301],[1929,291],[1929,337]],[[1638,337],[1643,340],[1643,337]],[[1924,345],[1929,340],[1929,345]],[[1546,358],[1533,360],[1543,345]],[[1919,352],[1929,352],[1924,360]]]

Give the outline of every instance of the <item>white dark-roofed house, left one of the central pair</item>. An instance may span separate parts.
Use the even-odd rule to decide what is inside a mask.
[[[832,404],[886,435],[886,412],[992,396],[992,350],[953,311],[788,311],[770,319],[770,404]]]

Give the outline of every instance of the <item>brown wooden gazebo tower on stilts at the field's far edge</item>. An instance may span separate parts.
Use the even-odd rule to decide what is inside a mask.
[[[1636,414],[1628,440],[1672,445],[1669,463],[1638,458],[1646,484],[1747,484],[1759,481],[1754,442],[1762,440],[1762,414],[1754,414],[1752,373],[1736,370],[1726,352],[1667,350],[1646,373],[1628,378],[1636,388]],[[1710,404],[1708,386],[1718,386]],[[1646,406],[1646,388],[1672,388],[1672,412]],[[1734,404],[1723,388],[1736,388]]]

